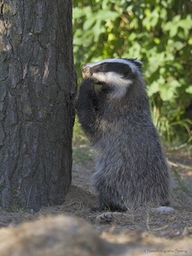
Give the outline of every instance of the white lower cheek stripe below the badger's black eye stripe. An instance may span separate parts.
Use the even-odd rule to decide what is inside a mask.
[[[110,93],[110,96],[116,99],[125,96],[127,88],[132,84],[131,79],[123,79],[120,74],[115,72],[96,73],[93,74],[92,78],[112,86],[113,91]]]

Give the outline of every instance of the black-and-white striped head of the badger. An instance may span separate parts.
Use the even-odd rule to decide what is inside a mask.
[[[142,62],[134,59],[106,59],[82,66],[84,79],[91,79],[111,90],[113,98],[125,96],[129,86],[141,76]]]

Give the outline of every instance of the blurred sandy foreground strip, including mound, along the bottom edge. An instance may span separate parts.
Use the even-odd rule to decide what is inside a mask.
[[[190,255],[191,240],[166,241],[132,231],[102,238],[80,218],[57,215],[0,230],[1,256]]]

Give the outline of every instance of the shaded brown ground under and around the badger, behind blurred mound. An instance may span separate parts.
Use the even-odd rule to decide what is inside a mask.
[[[90,209],[96,207],[97,202],[90,184],[90,177],[94,172],[94,163],[91,153],[88,152],[88,154],[90,156],[87,158],[75,157],[73,160],[73,182],[63,205],[43,207],[40,212],[18,209],[15,212],[2,211],[0,212],[0,227],[17,225],[44,215],[67,213],[67,215],[83,218],[92,224],[100,236],[108,241],[134,240],[137,242],[143,236],[150,236],[153,239],[163,238],[174,241],[186,238],[191,239],[192,244],[191,149],[172,151],[167,154],[167,160],[174,177],[172,207],[175,211],[164,213],[154,212],[146,208],[123,213],[91,212]],[[107,215],[107,218],[105,218],[105,215]],[[192,255],[192,251],[188,251],[187,254]]]

